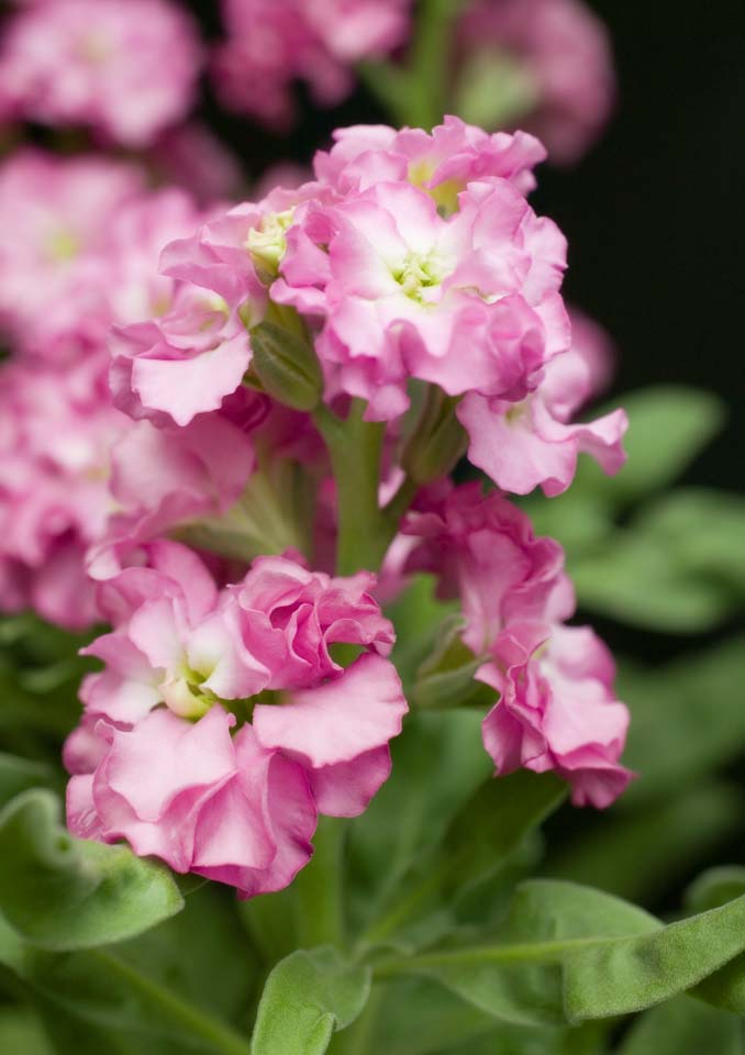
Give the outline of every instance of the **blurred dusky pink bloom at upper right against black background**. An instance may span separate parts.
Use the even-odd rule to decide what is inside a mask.
[[[526,111],[514,114],[548,147],[553,162],[577,162],[607,123],[615,100],[608,31],[582,0],[475,0],[458,24],[463,62],[515,64]]]

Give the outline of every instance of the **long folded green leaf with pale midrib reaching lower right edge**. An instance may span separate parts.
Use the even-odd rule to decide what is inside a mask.
[[[745,948],[745,898],[663,926],[642,909],[574,884],[519,888],[493,945],[379,962],[378,976],[423,974],[515,1024],[638,1011],[683,992]]]

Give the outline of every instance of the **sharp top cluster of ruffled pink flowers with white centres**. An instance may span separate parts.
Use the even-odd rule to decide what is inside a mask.
[[[623,412],[570,420],[591,376],[560,296],[565,240],[525,198],[543,156],[529,135],[455,118],[431,135],[337,133],[314,182],[166,248],[181,300],[120,332],[116,404],[181,425],[215,410],[252,366],[246,329],[292,309],[326,402],[363,399],[368,420],[394,426],[412,380],[436,386],[457,404],[470,460],[514,493],[565,490],[580,452],[615,471]]]

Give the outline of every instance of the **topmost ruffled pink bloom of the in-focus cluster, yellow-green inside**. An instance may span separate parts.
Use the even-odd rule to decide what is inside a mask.
[[[545,157],[544,146],[524,132],[489,134],[446,116],[432,133],[385,125],[340,129],[334,146],[319,152],[313,164],[318,178],[341,195],[408,180],[426,190],[441,212],[452,213],[457,196],[475,180],[499,176],[527,193],[535,187],[533,169]]]

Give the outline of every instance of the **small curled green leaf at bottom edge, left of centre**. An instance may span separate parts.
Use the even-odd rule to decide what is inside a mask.
[[[367,1002],[370,969],[332,947],[302,949],[277,964],[262,995],[252,1055],[322,1055],[336,1030]]]

